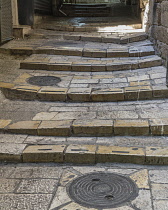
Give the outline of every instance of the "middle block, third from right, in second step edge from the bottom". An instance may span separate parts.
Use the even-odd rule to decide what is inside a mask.
[[[72,127],[73,133],[78,136],[108,136],[113,134],[112,120],[75,120]]]

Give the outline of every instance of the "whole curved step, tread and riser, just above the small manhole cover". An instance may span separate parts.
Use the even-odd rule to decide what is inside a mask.
[[[95,52],[96,53],[96,52]],[[100,52],[97,52],[100,53]],[[97,54],[96,53],[96,54]],[[85,55],[92,55],[88,52]],[[91,56],[90,56],[91,57]],[[107,58],[83,59],[79,56],[56,56],[56,55],[37,55],[20,63],[22,69],[48,70],[48,71],[74,71],[74,72],[103,72],[103,71],[122,71],[141,68],[150,68],[162,65],[162,59],[159,56],[146,56],[135,58]]]

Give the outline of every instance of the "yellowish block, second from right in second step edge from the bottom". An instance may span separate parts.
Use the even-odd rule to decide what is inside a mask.
[[[147,120],[116,120],[114,122],[114,134],[119,136],[149,135],[149,123]]]

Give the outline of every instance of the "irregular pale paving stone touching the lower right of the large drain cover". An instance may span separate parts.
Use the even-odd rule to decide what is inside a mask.
[[[152,210],[150,190],[140,190],[139,196],[131,203],[134,208]]]

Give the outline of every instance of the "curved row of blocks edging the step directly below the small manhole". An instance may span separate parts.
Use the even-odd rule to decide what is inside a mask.
[[[133,86],[125,88],[57,88],[29,84],[0,82],[0,89],[11,100],[68,101],[68,102],[116,102],[156,100],[168,98],[165,86]]]

